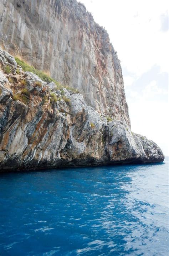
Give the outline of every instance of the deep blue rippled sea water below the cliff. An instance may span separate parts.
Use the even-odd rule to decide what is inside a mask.
[[[168,255],[168,159],[0,175],[0,255]]]

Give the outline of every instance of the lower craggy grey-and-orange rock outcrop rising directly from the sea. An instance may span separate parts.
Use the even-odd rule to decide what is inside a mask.
[[[108,122],[80,93],[23,72],[2,49],[0,63],[1,171],[164,160],[157,144]]]

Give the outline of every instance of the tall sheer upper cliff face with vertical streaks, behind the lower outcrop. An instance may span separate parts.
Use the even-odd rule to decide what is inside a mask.
[[[1,0],[0,44],[77,88],[97,112],[130,126],[116,52],[76,0]]]

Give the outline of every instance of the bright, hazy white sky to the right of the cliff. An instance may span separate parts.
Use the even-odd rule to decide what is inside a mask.
[[[169,144],[167,0],[80,0],[121,60],[132,131]]]

